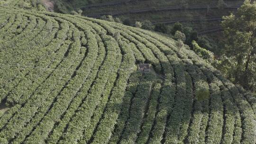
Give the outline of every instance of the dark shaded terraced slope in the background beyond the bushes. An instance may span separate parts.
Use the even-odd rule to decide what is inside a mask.
[[[235,13],[244,0],[224,0],[223,8],[218,0],[54,0],[55,10],[71,13],[81,9],[83,16],[101,18],[111,15],[129,25],[149,20],[154,24],[182,22],[198,31],[220,27],[222,16]],[[215,18],[215,19],[213,19]],[[219,18],[219,19],[216,19]],[[211,19],[208,21],[208,19]]]

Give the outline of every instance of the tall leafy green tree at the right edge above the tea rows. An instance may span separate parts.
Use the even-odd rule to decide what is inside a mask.
[[[233,59],[235,69],[231,72],[234,82],[255,90],[256,84],[256,2],[245,0],[236,16],[223,17],[225,54]]]

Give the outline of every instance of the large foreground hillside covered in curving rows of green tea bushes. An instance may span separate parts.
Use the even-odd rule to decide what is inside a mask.
[[[0,144],[256,143],[254,97],[119,23],[0,7],[0,81]]]

